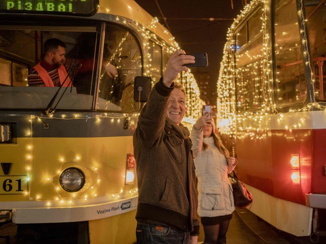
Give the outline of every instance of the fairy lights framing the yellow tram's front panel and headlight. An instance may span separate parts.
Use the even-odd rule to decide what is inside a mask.
[[[15,115],[11,114],[11,116],[20,116],[20,115]],[[101,122],[101,120],[109,120],[110,123],[120,123],[121,119],[126,118],[127,114],[122,114],[121,117],[113,117],[108,114],[103,114],[103,116],[95,115],[95,116],[85,116],[82,117],[81,114],[75,114],[73,118],[66,118],[65,114],[61,114],[60,117],[55,117],[53,114],[48,115],[48,116],[38,116],[38,115],[30,115],[28,120],[30,122],[30,129],[26,131],[26,136],[30,138],[29,144],[26,145],[26,166],[25,169],[28,172],[28,178],[27,181],[29,184],[33,182],[33,162],[35,158],[33,157],[34,153],[34,143],[33,143],[33,126],[38,126],[38,123],[43,123],[46,124],[48,120],[76,120],[76,119],[81,119],[84,120],[85,122],[94,120],[95,124]],[[134,113],[131,115],[129,118],[137,118],[139,116],[138,113]],[[134,124],[135,121],[131,120],[131,124]],[[60,165],[62,163],[69,163],[72,165],[79,165],[79,162],[81,162],[81,156],[80,154],[76,154],[73,158],[64,158],[63,156],[58,156],[58,162],[60,162]],[[87,204],[90,203],[98,203],[100,202],[105,202],[105,201],[114,201],[118,199],[124,199],[124,198],[130,198],[133,196],[136,196],[138,194],[138,189],[137,187],[134,188],[129,188],[129,189],[121,189],[118,192],[106,192],[104,196],[99,196],[97,191],[103,186],[100,184],[100,176],[98,174],[98,168],[96,166],[90,167],[90,168],[85,168],[85,170],[90,170],[93,174],[95,174],[95,181],[93,184],[89,185],[86,189],[82,190],[81,192],[66,192],[64,191],[61,186],[58,184],[58,177],[61,173],[61,169],[58,168],[56,171],[56,175],[49,175],[49,174],[44,174],[43,175],[43,180],[41,176],[41,181],[44,183],[52,183],[53,186],[55,187],[55,190],[57,192],[56,196],[54,196],[54,199],[48,199],[44,198],[44,195],[42,193],[33,191],[33,194],[31,194],[30,191],[26,191],[25,194],[28,195],[29,200],[37,200],[40,201],[41,205],[40,206],[45,206],[45,207],[54,207],[54,206],[72,206],[73,204],[79,204],[83,203],[83,201],[87,201]],[[38,177],[39,176],[35,176]],[[89,181],[89,179],[88,179]],[[87,192],[86,192],[87,191]],[[84,194],[85,193],[85,194]],[[92,200],[92,198],[99,196],[100,199],[97,200]],[[43,204],[43,205],[42,205]]]

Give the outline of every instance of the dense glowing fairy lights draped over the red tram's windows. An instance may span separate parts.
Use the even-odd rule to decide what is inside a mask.
[[[268,123],[271,120],[271,114],[277,114],[277,121],[284,120],[284,114],[279,113],[279,106],[275,103],[273,97],[274,92],[279,92],[273,89],[273,70],[272,70],[272,50],[271,37],[269,30],[270,16],[270,0],[253,0],[245,6],[243,11],[237,16],[234,23],[228,30],[227,42],[224,46],[224,55],[221,62],[219,79],[217,82],[218,91],[218,120],[220,131],[223,134],[230,136],[245,137],[251,139],[262,139],[268,135]],[[246,55],[246,59],[253,62],[246,67],[236,67],[234,62],[234,52],[237,48],[235,33],[239,30],[239,24],[245,20],[257,8],[262,8],[262,25],[260,32],[262,34],[261,50],[255,55],[250,56],[248,52],[238,55],[236,61],[241,61]],[[298,21],[301,22],[300,28],[301,43],[303,55],[306,57],[305,65],[308,67],[314,94],[314,101],[318,96],[318,91],[315,91],[315,80],[310,64],[310,54],[308,52],[307,42],[307,20],[304,20],[302,0],[299,1],[299,11],[297,11]],[[274,24],[274,23],[273,23]],[[285,33],[283,33],[285,34]],[[279,47],[281,49],[281,47]],[[244,75],[250,76],[250,79],[244,79]],[[261,82],[261,83],[260,83]],[[251,87],[250,87],[251,86]],[[248,89],[250,87],[250,89]],[[237,94],[236,94],[237,93]],[[249,98],[249,99],[245,99]],[[298,98],[296,97],[298,100]],[[238,113],[237,109],[243,112]],[[254,108],[250,110],[250,108]],[[287,113],[311,111],[312,108],[325,110],[323,106],[317,102],[308,103],[299,109],[289,109]],[[298,121],[285,125],[285,129],[300,128],[305,122],[304,118]],[[237,128],[238,125],[238,128]]]

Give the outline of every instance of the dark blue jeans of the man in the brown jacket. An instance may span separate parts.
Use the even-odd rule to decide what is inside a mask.
[[[175,243],[188,244],[190,232],[167,225],[137,222],[137,244]]]

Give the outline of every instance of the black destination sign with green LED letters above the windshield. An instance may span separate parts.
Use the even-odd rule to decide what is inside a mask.
[[[98,0],[0,0],[0,12],[90,16]]]

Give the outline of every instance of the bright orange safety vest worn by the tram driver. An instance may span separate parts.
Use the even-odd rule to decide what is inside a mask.
[[[37,73],[39,73],[39,76],[43,80],[44,85],[46,87],[54,87],[53,81],[52,81],[49,73],[41,66],[40,63],[35,65],[33,68],[37,71]],[[64,65],[60,65],[60,67],[57,70],[58,70],[60,84],[62,85],[64,79],[66,79],[68,74],[67,74],[67,71],[66,71],[66,68],[64,67]],[[67,87],[69,83],[70,83],[70,78],[68,76],[66,81],[63,84],[63,87]],[[71,87],[71,83],[70,83],[69,87]]]

